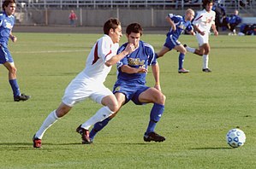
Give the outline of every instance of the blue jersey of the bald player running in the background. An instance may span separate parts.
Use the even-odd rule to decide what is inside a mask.
[[[182,32],[184,32],[184,30],[188,30],[189,32],[193,30],[193,26],[191,25],[191,22],[189,20],[186,21],[184,17],[180,15],[173,15],[173,14],[169,14],[168,16],[170,17],[170,20],[172,20],[176,25],[176,31],[174,31],[170,27],[170,31],[167,33],[168,37],[170,37],[171,35],[173,38],[177,40],[182,34]]]

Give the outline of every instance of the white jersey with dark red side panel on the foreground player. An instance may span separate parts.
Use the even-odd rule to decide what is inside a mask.
[[[111,67],[107,67],[104,63],[116,55],[118,48],[119,44],[113,44],[108,35],[99,38],[87,57],[86,68],[83,70],[86,77],[98,83],[104,83],[111,70]]]

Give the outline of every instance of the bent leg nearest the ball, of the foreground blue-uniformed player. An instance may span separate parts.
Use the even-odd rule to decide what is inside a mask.
[[[144,134],[144,141],[164,142],[165,137],[162,137],[155,132],[156,125],[164,113],[164,94],[155,88],[148,88],[147,90],[140,93],[138,99],[139,102],[154,103],[150,113],[149,124]]]

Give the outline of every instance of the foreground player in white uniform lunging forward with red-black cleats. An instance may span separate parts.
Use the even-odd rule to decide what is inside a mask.
[[[98,112],[86,123],[86,127],[94,125],[117,111],[118,103],[114,94],[104,86],[104,81],[110,73],[110,68],[125,55],[134,51],[134,44],[128,44],[127,48],[116,55],[119,40],[122,37],[121,23],[117,19],[110,19],[104,23],[104,36],[93,45],[87,57],[86,68],[71,81],[65,90],[63,102],[52,111],[45,119],[39,131],[33,136],[33,147],[41,148],[41,139],[45,131],[58,119],[68,114],[69,110],[78,102],[90,98],[102,104]],[[88,135],[88,131],[81,131],[82,137]]]

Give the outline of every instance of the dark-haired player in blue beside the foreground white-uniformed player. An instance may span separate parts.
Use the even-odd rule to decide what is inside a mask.
[[[118,111],[129,101],[133,101],[137,105],[153,103],[149,125],[144,135],[144,141],[164,142],[165,137],[155,132],[155,127],[164,113],[165,96],[160,88],[159,67],[154,50],[152,45],[140,41],[142,27],[139,23],[128,25],[126,35],[128,43],[122,44],[119,50],[117,50],[117,53],[121,53],[128,44],[134,44],[135,50],[117,63],[118,75],[113,93],[118,102]],[[152,73],[155,79],[154,87],[146,86],[148,66],[152,67]],[[83,140],[82,143],[92,143],[97,132],[101,131],[104,126],[109,123],[110,119],[116,116],[118,111],[109,118],[96,123],[88,139]]]

